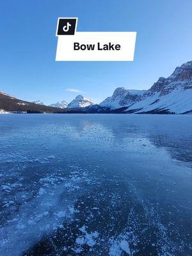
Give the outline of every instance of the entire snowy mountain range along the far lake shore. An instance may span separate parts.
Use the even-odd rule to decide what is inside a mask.
[[[77,95],[69,104],[63,100],[45,106],[40,100],[26,102],[0,92],[0,109],[41,113],[43,110],[47,113],[192,113],[192,61],[175,68],[167,78],[159,77],[149,90],[116,88],[113,95],[100,104],[93,104],[92,100]]]

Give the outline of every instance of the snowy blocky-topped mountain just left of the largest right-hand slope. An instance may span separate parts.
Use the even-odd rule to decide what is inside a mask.
[[[124,87],[116,88],[113,95],[102,101],[99,105],[110,109],[118,109],[125,106],[128,107],[136,100],[141,99],[141,96],[145,92],[145,90],[129,90]]]

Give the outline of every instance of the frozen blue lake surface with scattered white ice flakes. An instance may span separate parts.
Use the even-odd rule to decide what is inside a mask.
[[[0,255],[191,255],[192,115],[0,115]]]

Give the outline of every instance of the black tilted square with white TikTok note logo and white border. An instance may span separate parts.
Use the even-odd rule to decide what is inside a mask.
[[[59,18],[56,36],[74,35],[77,27],[77,18]]]

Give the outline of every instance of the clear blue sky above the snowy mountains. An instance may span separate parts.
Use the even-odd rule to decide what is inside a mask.
[[[148,89],[192,60],[191,0],[3,0],[0,16],[0,90],[20,99],[83,94],[99,103],[119,86]],[[136,31],[134,61],[55,61],[58,17],[78,17],[77,31]]]

